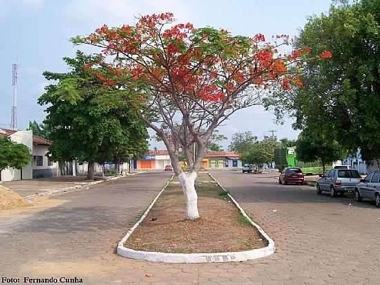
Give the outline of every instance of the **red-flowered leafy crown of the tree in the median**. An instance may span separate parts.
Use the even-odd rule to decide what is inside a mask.
[[[302,86],[288,66],[302,68],[301,57],[311,52],[307,46],[281,55],[278,48],[284,43],[265,43],[262,34],[234,37],[227,30],[194,28],[190,23],[173,25],[174,21],[171,13],[147,15],[135,26],[104,25],[85,37],[84,42],[101,46],[102,53],[115,56],[118,64],[108,63],[111,76],[97,77],[110,86],[116,81],[112,76],[123,77],[126,86],[142,82],[163,96],[205,102],[238,100],[237,94],[249,86],[267,89],[277,83],[285,90]],[[276,38],[287,44],[289,36]],[[332,55],[324,50],[319,56]],[[104,60],[102,64],[107,65]]]

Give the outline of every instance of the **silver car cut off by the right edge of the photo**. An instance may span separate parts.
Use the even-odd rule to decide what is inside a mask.
[[[361,201],[361,199],[370,199],[376,201],[377,207],[380,207],[380,172],[375,171],[364,179],[355,187],[355,200]]]

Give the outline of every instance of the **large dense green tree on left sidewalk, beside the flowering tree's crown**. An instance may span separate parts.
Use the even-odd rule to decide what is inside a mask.
[[[77,52],[64,57],[71,71],[44,72],[46,86],[38,102],[48,105],[44,124],[50,129],[53,145],[49,153],[55,160],[88,162],[88,179],[95,176],[95,162],[120,163],[147,148],[148,134],[124,100],[124,90],[105,86],[96,74],[84,68],[95,57]]]

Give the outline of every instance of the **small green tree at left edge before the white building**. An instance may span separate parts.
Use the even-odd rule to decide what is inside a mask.
[[[7,167],[21,169],[30,163],[30,151],[26,145],[13,143],[10,138],[0,136],[0,181],[1,172]]]

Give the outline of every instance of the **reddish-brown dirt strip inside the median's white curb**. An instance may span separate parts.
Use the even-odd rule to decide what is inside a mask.
[[[178,182],[171,182],[124,246],[172,253],[233,252],[267,246],[208,174],[200,174],[197,192],[200,219],[184,221],[182,189]]]

